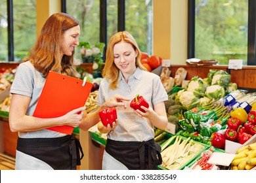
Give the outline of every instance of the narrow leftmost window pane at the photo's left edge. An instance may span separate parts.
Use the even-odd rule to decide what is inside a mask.
[[[0,61],[8,60],[7,1],[0,0]]]

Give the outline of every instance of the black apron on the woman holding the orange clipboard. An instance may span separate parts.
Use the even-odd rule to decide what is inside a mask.
[[[44,161],[55,170],[75,170],[83,158],[81,144],[72,135],[33,139],[19,137],[17,150]]]

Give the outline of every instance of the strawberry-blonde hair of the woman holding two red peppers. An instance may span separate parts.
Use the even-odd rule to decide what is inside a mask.
[[[112,35],[112,37],[110,37],[110,40],[108,41],[108,47],[106,49],[106,61],[104,69],[102,71],[102,76],[110,82],[110,90],[114,90],[117,88],[119,69],[116,67],[116,64],[114,63],[114,46],[115,44],[121,41],[131,44],[134,50],[137,50],[138,55],[135,62],[136,67],[139,67],[143,71],[146,71],[146,69],[140,63],[141,52],[134,37],[127,31],[119,31],[115,33],[114,35]]]

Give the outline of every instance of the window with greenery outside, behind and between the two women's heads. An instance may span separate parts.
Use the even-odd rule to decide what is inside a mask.
[[[89,41],[92,44],[96,42],[105,42],[108,44],[108,39],[117,31],[129,31],[137,40],[140,50],[152,54],[152,0],[77,0],[76,3],[72,0],[62,1],[66,4],[66,12],[71,14],[81,24],[81,36],[79,41]],[[125,25],[118,18],[119,6],[125,6],[125,10],[121,12],[121,16],[125,17]],[[100,6],[104,6],[103,8]],[[100,14],[100,10],[106,8],[106,14]],[[102,20],[101,20],[102,19]],[[106,22],[104,22],[106,21]],[[100,24],[100,22],[104,22]],[[101,26],[106,27],[101,27]],[[106,30],[104,33],[100,30]],[[100,35],[104,35],[102,39]],[[79,56],[79,48],[76,48],[75,56]]]

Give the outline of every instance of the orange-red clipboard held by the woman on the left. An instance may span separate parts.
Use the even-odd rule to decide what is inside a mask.
[[[37,118],[56,118],[71,110],[85,106],[93,84],[71,76],[49,72],[39,97],[33,116]],[[69,125],[47,128],[71,135],[74,127]]]

